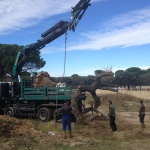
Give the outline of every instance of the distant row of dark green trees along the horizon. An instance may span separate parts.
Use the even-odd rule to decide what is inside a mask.
[[[96,70],[94,73],[100,74],[105,71],[103,70]],[[88,75],[88,76],[79,76],[78,74],[74,74],[71,77],[52,77],[52,80],[55,82],[65,81],[68,85],[91,85],[94,80],[95,76]],[[114,77],[104,77],[102,78],[102,83],[105,84],[114,84],[119,86],[148,86],[150,85],[150,68],[146,70],[141,70],[138,67],[131,67],[124,70],[117,70],[114,73]]]

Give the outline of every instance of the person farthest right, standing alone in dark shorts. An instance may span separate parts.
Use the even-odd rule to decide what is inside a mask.
[[[145,127],[145,124],[144,124],[145,106],[142,100],[140,101],[139,118],[140,118],[141,127],[144,128]]]

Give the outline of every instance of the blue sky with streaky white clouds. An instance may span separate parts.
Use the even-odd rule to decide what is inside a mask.
[[[60,20],[78,0],[0,0],[0,43],[27,45]],[[91,0],[76,31],[68,31],[65,76],[95,70],[150,68],[150,1]],[[41,70],[61,77],[65,35],[46,45]],[[40,71],[40,70],[39,70]]]

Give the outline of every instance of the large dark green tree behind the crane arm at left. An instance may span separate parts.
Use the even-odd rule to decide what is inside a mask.
[[[0,44],[0,79],[3,80],[7,74],[12,74],[12,68],[19,50],[23,46],[16,44]],[[40,52],[27,58],[27,63],[23,66],[23,71],[35,71],[42,68],[46,62],[40,57]]]

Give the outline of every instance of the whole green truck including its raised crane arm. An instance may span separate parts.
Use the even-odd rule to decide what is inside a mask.
[[[91,0],[80,0],[72,7],[70,22],[59,21],[41,34],[37,42],[24,46],[17,54],[12,69],[13,82],[0,83],[0,114],[8,116],[35,116],[41,121],[52,119],[53,113],[64,101],[71,101],[71,87],[26,87],[21,72],[26,57],[35,54],[67,30],[75,30]]]

